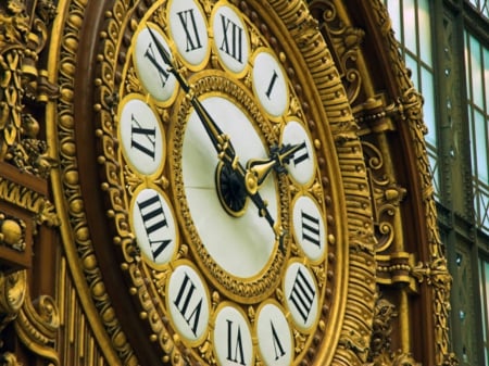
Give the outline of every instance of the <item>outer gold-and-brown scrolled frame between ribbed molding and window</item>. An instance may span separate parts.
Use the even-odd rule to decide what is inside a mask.
[[[360,2],[359,2],[360,3]],[[428,285],[432,291],[434,332],[436,339],[436,364],[441,365],[447,359],[453,359],[449,350],[449,292],[450,275],[447,270],[443,248],[437,229],[437,214],[432,195],[432,184],[429,172],[428,157],[424,142],[426,127],[423,123],[423,100],[414,90],[394,39],[387,10],[381,1],[373,1],[361,10],[350,10],[346,1],[315,0],[311,2],[311,10],[319,20],[319,27],[333,50],[333,58],[338,63],[342,83],[348,90],[349,101],[353,106],[355,122],[359,126],[358,136],[362,139],[363,153],[368,169],[371,201],[375,229],[375,262],[376,281],[383,287],[393,287],[398,317],[399,342],[402,348],[392,354],[375,359],[374,365],[386,365],[405,362],[415,365],[409,356],[412,346],[410,333],[412,317],[410,314],[410,299],[417,293],[419,286]],[[354,17],[359,12],[365,14],[363,22],[371,34],[355,27]],[[355,15],[353,15],[355,13]],[[368,37],[368,46],[362,45]],[[369,75],[367,59],[372,58],[371,47],[375,42],[380,50],[379,58],[387,67],[388,90],[376,90],[377,80]],[[368,48],[368,49],[367,49]],[[375,58],[372,58],[375,59]],[[377,60],[377,59],[376,59]],[[372,61],[371,61],[372,62]],[[374,67],[375,68],[375,67]],[[393,154],[399,151],[391,146],[390,136],[405,136],[405,140],[413,150],[413,165],[404,171],[412,174],[419,184],[423,200],[423,217],[413,218],[426,230],[426,247],[429,248],[429,258],[426,263],[415,265],[418,253],[412,253],[404,242],[405,230],[410,230],[404,223],[406,217],[402,212],[404,198],[413,194],[410,188],[399,182],[398,174],[402,167],[396,166]],[[341,136],[340,141],[349,141],[348,136]],[[405,152],[408,153],[408,152]],[[404,173],[405,174],[405,173]],[[406,222],[408,223],[408,222]],[[421,245],[424,245],[421,244]],[[421,249],[419,249],[421,251]],[[432,268],[432,274],[431,269]],[[435,276],[431,278],[430,276]],[[427,280],[427,278],[430,280]],[[436,285],[435,285],[436,283]],[[361,353],[361,346],[358,346]],[[373,350],[371,350],[372,354]],[[435,361],[434,361],[435,362]]]

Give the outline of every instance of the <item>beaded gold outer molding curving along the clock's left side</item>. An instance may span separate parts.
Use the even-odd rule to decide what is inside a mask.
[[[79,33],[88,1],[60,1],[49,50],[49,81],[60,85],[60,99],[47,105],[47,140],[50,156],[60,168],[51,172],[54,204],[63,225],[62,241],[79,301],[100,350],[110,365],[136,365],[134,351],[114,318],[103,291],[103,278],[91,247],[84,213],[74,143],[73,91]]]

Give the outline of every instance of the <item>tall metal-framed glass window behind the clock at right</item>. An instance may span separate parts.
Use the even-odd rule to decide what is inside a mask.
[[[453,276],[452,348],[461,366],[489,365],[489,0],[463,0],[456,9],[451,0],[384,2],[425,100]]]

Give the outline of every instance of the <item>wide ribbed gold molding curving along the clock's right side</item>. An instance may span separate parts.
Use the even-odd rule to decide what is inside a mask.
[[[335,195],[343,195],[347,209],[344,217],[339,219],[348,223],[348,243],[341,243],[348,244],[348,258],[347,266],[338,270],[342,272],[348,287],[344,287],[344,292],[338,291],[335,294],[336,301],[344,299],[346,303],[343,308],[337,307],[338,313],[333,315],[341,319],[338,327],[329,326],[325,335],[330,339],[338,339],[338,348],[335,351],[316,349],[315,352],[319,354],[318,359],[323,364],[363,363],[366,359],[375,304],[376,240],[369,184],[362,144],[356,135],[358,126],[335,61],[325,41],[315,31],[317,22],[304,8],[305,4],[300,1],[280,0],[271,3],[296,39],[296,46],[306,63],[303,68],[310,70],[312,83],[319,91],[321,100],[311,98],[311,103],[323,105],[326,112],[327,122],[323,123],[328,125],[335,139],[330,146],[335,147],[336,159],[330,161],[338,161],[343,189],[343,192],[335,192]],[[293,54],[288,52],[289,56]],[[343,260],[337,258],[338,262]]]

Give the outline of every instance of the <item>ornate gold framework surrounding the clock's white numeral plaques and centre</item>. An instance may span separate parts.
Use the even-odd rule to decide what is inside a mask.
[[[272,26],[274,23],[271,20],[266,20],[266,11],[261,10],[260,13],[254,13],[251,10],[250,5],[244,2],[237,3],[243,11],[243,13],[252,18],[252,23],[250,23],[250,53],[253,53],[254,50],[259,50],[264,46],[268,47],[269,43],[274,43],[276,52],[279,54],[280,62],[284,64],[284,68],[287,70],[287,73],[290,75],[292,79],[292,84],[289,87],[296,88],[298,91],[296,92],[304,92],[313,96],[309,91],[304,90],[300,85],[305,86],[310,83],[308,76],[302,75],[298,67],[292,66],[292,61],[288,61],[285,49],[280,49],[278,45],[287,45],[288,40],[291,38],[275,38],[272,35],[279,35],[284,33],[283,29],[271,28],[266,29],[267,26]],[[255,4],[258,7],[258,4]],[[142,10],[140,9],[140,13],[133,13],[133,21],[128,23],[128,29],[125,31],[125,38],[129,39],[134,36],[138,35],[139,29],[141,29],[141,24],[149,23],[154,24],[152,27],[162,26],[165,28],[166,24],[166,14],[164,12],[165,1],[160,1],[155,4],[152,4],[149,9]],[[205,8],[205,7],[204,7]],[[259,7],[260,8],[260,7]],[[137,17],[135,14],[143,14],[141,18]],[[210,16],[210,9],[208,9],[208,16]],[[260,15],[259,15],[260,14]],[[262,21],[263,17],[263,21]],[[248,22],[248,21],[244,21]],[[251,22],[251,21],[250,21]],[[261,23],[264,22],[264,23]],[[254,23],[254,24],[253,24]],[[138,25],[139,24],[139,25]],[[265,25],[267,24],[267,25]],[[123,28],[122,28],[123,29]],[[258,29],[264,31],[266,38],[261,39]],[[263,30],[265,29],[265,30]],[[121,45],[122,35],[114,33],[114,39],[110,42],[110,45]],[[318,34],[316,34],[318,36]],[[284,36],[280,36],[284,37]],[[162,306],[163,303],[160,303],[159,298],[167,292],[168,288],[168,278],[172,276],[174,268],[178,266],[170,266],[167,268],[161,267],[155,269],[154,266],[146,266],[145,263],[147,260],[140,260],[139,248],[137,247],[137,241],[134,239],[134,236],[128,231],[130,228],[129,220],[130,218],[127,216],[127,209],[123,204],[124,202],[128,202],[130,197],[126,197],[124,189],[122,187],[130,187],[127,191],[133,194],[135,187],[139,184],[148,185],[148,187],[154,186],[159,187],[163,191],[166,191],[167,197],[174,197],[175,202],[177,204],[175,207],[176,217],[181,223],[180,230],[186,232],[180,239],[180,245],[178,249],[178,253],[175,256],[175,261],[188,261],[192,258],[192,253],[196,253],[199,261],[199,268],[205,274],[205,277],[211,281],[214,287],[210,288],[211,291],[211,314],[218,314],[218,312],[226,306],[224,304],[234,304],[234,301],[238,301],[243,304],[240,312],[246,314],[249,321],[256,321],[254,318],[254,314],[256,313],[260,301],[267,299],[276,299],[276,303],[285,304],[286,299],[284,294],[284,289],[279,286],[281,281],[280,278],[285,275],[285,264],[286,260],[289,255],[302,255],[301,249],[297,244],[292,244],[292,234],[285,239],[285,248],[287,248],[287,252],[284,253],[278,247],[274,250],[274,256],[268,261],[267,269],[262,272],[259,276],[251,280],[242,280],[240,278],[236,278],[230,276],[227,272],[220,268],[216,263],[213,261],[212,256],[205,250],[205,247],[202,245],[202,242],[193,228],[192,219],[190,212],[188,211],[188,205],[186,202],[186,197],[183,194],[183,177],[181,177],[181,147],[183,147],[183,138],[185,134],[185,125],[188,118],[188,114],[190,111],[190,98],[193,96],[206,97],[212,94],[224,94],[230,100],[234,100],[237,105],[243,109],[247,115],[250,116],[252,121],[255,122],[256,128],[263,134],[263,139],[267,142],[268,146],[277,144],[279,142],[279,136],[281,129],[284,127],[284,122],[273,118],[271,122],[264,119],[264,112],[252,102],[251,91],[244,92],[246,88],[251,90],[251,78],[247,76],[247,72],[241,72],[238,74],[237,78],[242,78],[242,81],[231,80],[226,76],[226,73],[222,71],[211,72],[203,71],[196,74],[192,77],[192,73],[189,72],[183,64],[178,64],[178,73],[183,75],[185,79],[189,79],[189,83],[192,85],[191,97],[186,97],[180,93],[176,99],[171,97],[170,101],[165,101],[163,104],[160,101],[156,101],[153,104],[153,108],[158,112],[159,117],[163,122],[165,128],[168,126],[173,126],[171,129],[165,132],[168,137],[170,146],[168,151],[172,153],[166,154],[166,161],[170,164],[171,169],[164,168],[161,175],[152,175],[152,176],[140,176],[138,174],[134,174],[130,168],[124,167],[120,169],[118,166],[124,166],[124,163],[120,163],[118,159],[121,156],[121,152],[118,152],[118,147],[114,144],[114,140],[111,138],[114,135],[114,129],[117,128],[115,125],[117,123],[116,113],[118,104],[117,100],[125,100],[126,96],[139,94],[142,96],[145,91],[145,87],[142,84],[138,81],[137,73],[134,71],[131,50],[133,48],[129,46],[130,43],[125,43],[127,49],[122,47],[118,52],[126,54],[127,59],[118,58],[118,59],[104,59],[101,62],[100,70],[110,71],[113,70],[115,73],[112,74],[109,72],[103,73],[104,79],[106,78],[108,83],[103,83],[103,79],[98,79],[96,83],[100,90],[100,101],[101,103],[97,105],[97,111],[99,112],[99,118],[101,121],[100,128],[97,130],[97,136],[101,140],[101,151],[103,151],[103,156],[100,156],[99,163],[102,164],[105,171],[105,175],[109,178],[106,182],[102,184],[102,189],[108,193],[111,202],[111,210],[109,210],[109,217],[113,218],[113,227],[115,227],[115,236],[113,238],[113,242],[121,247],[122,254],[124,257],[124,262],[121,267],[124,272],[129,275],[129,283],[131,283],[131,293],[134,293],[137,299],[139,299],[141,310],[140,314],[148,323],[149,327],[152,329],[153,339],[156,343],[160,344],[160,348],[164,352],[168,352],[167,350],[172,350],[172,354],[178,355],[183,352],[183,349],[186,346],[191,346],[193,351],[188,351],[188,359],[193,362],[193,359],[202,359],[202,362],[208,364],[214,364],[216,362],[216,355],[211,351],[210,346],[213,346],[213,340],[208,338],[205,340],[201,340],[199,342],[196,341],[185,341],[179,340],[177,332],[175,332],[172,328],[175,327],[175,324],[171,320],[170,324],[162,323],[161,318],[170,317],[168,310],[165,306]],[[277,51],[278,50],[278,51]],[[312,51],[312,50],[311,50]],[[127,60],[127,61],[126,61]],[[291,59],[293,60],[293,59]],[[123,66],[120,66],[117,62],[121,62]],[[178,59],[177,61],[178,62]],[[294,60],[293,62],[300,62]],[[211,54],[211,64],[213,67],[221,70],[218,65],[218,61]],[[118,72],[121,70],[121,72]],[[248,68],[244,68],[246,71]],[[125,76],[127,75],[127,76]],[[112,78],[117,79],[117,77],[122,78],[122,88],[118,89],[117,84],[112,84]],[[243,83],[239,86],[240,83]],[[113,96],[117,96],[113,98]],[[311,263],[308,266],[311,268],[311,274],[314,274],[314,277],[318,281],[319,292],[317,293],[319,302],[318,304],[322,306],[323,311],[319,311],[317,319],[313,323],[313,325],[308,325],[306,328],[293,331],[293,343],[294,345],[294,356],[303,357],[305,356],[305,350],[311,350],[313,339],[324,339],[322,343],[324,349],[327,349],[325,342],[330,342],[335,337],[326,338],[324,336],[324,329],[327,327],[334,327],[334,324],[341,319],[341,316],[329,318],[329,312],[325,311],[325,308],[333,307],[334,312],[338,314],[342,313],[343,302],[340,301],[338,294],[342,291],[341,288],[344,288],[344,281],[341,281],[343,278],[343,274],[336,273],[337,266],[343,265],[343,258],[346,258],[344,250],[347,247],[343,244],[338,245],[337,243],[342,243],[344,241],[344,232],[341,232],[341,227],[336,226],[336,220],[342,219],[342,214],[339,211],[340,204],[336,203],[337,199],[330,195],[330,190],[337,190],[337,188],[330,188],[333,185],[331,174],[337,168],[336,160],[334,155],[330,155],[328,150],[325,150],[327,146],[333,144],[333,140],[328,137],[326,129],[323,128],[319,124],[314,123],[314,121],[321,121],[325,117],[317,113],[314,108],[308,104],[304,101],[304,97],[293,97],[287,102],[287,106],[289,112],[284,117],[284,121],[289,119],[290,117],[296,117],[300,119],[305,119],[309,123],[309,128],[311,129],[311,134],[313,135],[314,141],[314,154],[317,155],[317,161],[319,166],[315,166],[314,169],[321,167],[322,177],[314,178],[313,181],[306,182],[304,188],[299,186],[294,186],[291,182],[287,182],[285,176],[278,177],[278,201],[280,202],[280,218],[279,222],[283,225],[283,229],[286,231],[290,231],[288,226],[289,216],[288,210],[286,207],[290,207],[291,197],[300,193],[301,190],[309,192],[310,197],[314,198],[319,204],[321,207],[323,205],[326,206],[326,212],[329,213],[327,220],[327,245],[329,248],[328,256],[324,257],[322,261],[316,261],[315,263]],[[311,97],[312,98],[312,97]],[[111,104],[104,104],[108,101],[112,101]],[[176,110],[178,111],[176,114],[173,114],[171,110],[167,108],[168,105],[175,104],[177,105]],[[115,124],[112,123],[115,121]],[[328,163],[326,163],[328,162]],[[314,173],[314,176],[316,173]],[[172,193],[170,193],[172,192]],[[251,204],[251,203],[250,203]],[[324,209],[322,209],[324,210]],[[266,225],[264,222],[263,225]],[[185,227],[189,227],[189,231]],[[188,234],[187,234],[188,232]],[[290,248],[290,250],[289,250]],[[192,260],[193,261],[193,260]],[[293,261],[292,261],[293,262]],[[302,261],[301,261],[302,262]],[[175,262],[176,264],[177,262]],[[308,262],[304,262],[308,263]],[[302,266],[302,264],[301,264]],[[305,268],[305,267],[304,267]],[[309,275],[311,276],[311,275]],[[149,286],[145,279],[151,279],[153,285]],[[304,277],[312,278],[312,277]],[[289,290],[290,291],[290,290]],[[233,302],[227,302],[229,299]],[[337,300],[334,302],[334,300]],[[221,305],[220,305],[221,304]],[[248,307],[247,307],[248,306]],[[283,305],[285,306],[285,305]],[[218,318],[218,317],[217,317]],[[216,318],[216,320],[217,320]],[[316,330],[311,332],[311,327],[314,326]],[[211,333],[210,333],[211,335]],[[210,336],[208,336],[210,337]],[[173,339],[173,341],[171,340]],[[328,343],[329,344],[329,343]],[[208,350],[209,351],[205,351]],[[328,355],[329,357],[331,355]],[[319,354],[318,359],[324,359],[324,355]],[[164,357],[166,359],[166,356]],[[254,358],[254,356],[253,356]],[[172,359],[168,358],[168,359]],[[256,358],[260,359],[260,358]],[[299,359],[299,358],[298,358]],[[298,361],[297,361],[298,362]]]

